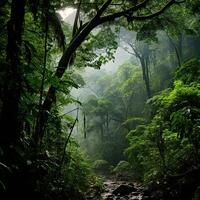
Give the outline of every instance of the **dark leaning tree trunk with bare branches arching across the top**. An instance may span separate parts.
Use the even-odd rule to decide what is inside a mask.
[[[57,70],[55,72],[55,78],[62,78],[65,70],[70,65],[70,60],[72,58],[72,55],[74,55],[77,48],[81,45],[81,43],[86,39],[88,34],[97,26],[106,23],[114,21],[120,17],[125,17],[128,20],[146,20],[150,19],[152,17],[155,17],[161,13],[163,13],[168,7],[170,7],[172,4],[176,3],[175,0],[169,1],[165,6],[163,6],[159,11],[155,11],[153,14],[144,15],[144,16],[136,16],[134,13],[137,11],[140,11],[141,9],[145,9],[146,5],[149,3],[148,0],[144,0],[141,3],[138,3],[137,5],[129,5],[129,8],[126,8],[125,10],[117,10],[114,11],[112,14],[104,15],[106,12],[109,13],[112,0],[106,1],[101,8],[99,8],[96,11],[96,14],[94,17],[89,21],[83,24],[79,27],[79,30],[77,34],[72,38],[69,46],[65,49],[59,63]],[[110,6],[110,7],[109,7]],[[42,132],[44,131],[44,126],[48,119],[48,113],[52,107],[52,103],[55,99],[56,94],[56,88],[54,86],[50,86],[48,93],[46,95],[46,98],[42,105],[42,111],[39,116],[39,123],[36,125],[38,126],[38,135],[42,135]],[[37,141],[38,142],[38,141]],[[36,143],[37,143],[36,142]]]

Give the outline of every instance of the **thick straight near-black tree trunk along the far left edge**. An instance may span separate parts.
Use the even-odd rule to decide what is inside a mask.
[[[12,0],[11,16],[7,24],[7,70],[3,88],[3,107],[1,112],[0,143],[3,146],[14,144],[19,139],[20,116],[19,102],[21,96],[20,46],[23,32],[24,9],[26,0]]]

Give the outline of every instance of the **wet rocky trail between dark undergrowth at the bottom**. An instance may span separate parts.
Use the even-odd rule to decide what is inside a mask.
[[[92,188],[87,200],[142,200],[142,186],[136,182],[106,180],[103,191]]]

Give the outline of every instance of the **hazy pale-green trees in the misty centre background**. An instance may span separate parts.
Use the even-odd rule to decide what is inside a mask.
[[[142,123],[145,88],[141,76],[139,67],[127,61],[113,75],[104,74],[96,82],[92,81],[98,96],[92,95],[83,101],[87,137],[80,141],[93,160],[104,159],[116,164],[124,158],[127,132]]]

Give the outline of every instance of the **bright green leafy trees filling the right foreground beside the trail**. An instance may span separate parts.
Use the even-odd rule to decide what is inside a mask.
[[[159,181],[160,189],[163,184],[172,184],[161,189],[164,199],[182,199],[183,195],[191,198],[192,191],[185,194],[176,184],[181,177],[187,176],[188,170],[199,170],[198,66],[198,60],[190,60],[177,69],[174,86],[148,101],[152,113],[149,123],[136,127],[128,134],[129,147],[125,153],[144,182],[151,185]],[[190,178],[196,180],[196,176],[199,175],[194,172]],[[170,181],[170,177],[175,178],[174,182],[164,183]],[[198,181],[188,181],[187,184],[194,190]],[[184,183],[179,185],[180,188],[181,185]],[[170,195],[169,190],[172,191]]]

